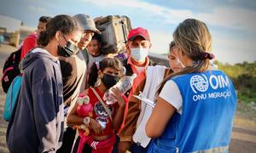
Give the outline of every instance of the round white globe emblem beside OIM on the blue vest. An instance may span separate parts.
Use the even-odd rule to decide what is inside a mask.
[[[207,91],[209,86],[207,77],[202,74],[202,76],[195,75],[190,78],[190,87],[192,88],[193,92],[197,94],[197,92],[205,92]]]

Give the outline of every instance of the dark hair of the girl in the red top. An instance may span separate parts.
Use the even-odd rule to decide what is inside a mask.
[[[117,58],[105,58],[102,61],[98,62],[98,64],[94,63],[90,67],[90,73],[89,73],[89,79],[88,79],[88,85],[95,86],[95,83],[98,78],[98,71],[104,71],[107,67],[113,68],[117,71],[121,72],[121,76],[123,75],[123,64],[122,62]]]

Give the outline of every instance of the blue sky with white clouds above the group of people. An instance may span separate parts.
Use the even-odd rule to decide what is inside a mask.
[[[148,29],[153,53],[164,54],[172,32],[187,18],[204,21],[212,33],[212,53],[224,63],[256,60],[255,0],[1,0],[0,14],[36,27],[41,15],[126,15],[131,26]]]

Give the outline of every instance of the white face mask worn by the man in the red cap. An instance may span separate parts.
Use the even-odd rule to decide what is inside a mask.
[[[148,48],[131,48],[131,58],[143,62],[148,56]]]

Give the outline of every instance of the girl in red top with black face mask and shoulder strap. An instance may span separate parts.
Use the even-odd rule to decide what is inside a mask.
[[[92,65],[89,85],[93,88],[88,88],[80,94],[80,97],[86,97],[85,101],[92,105],[91,112],[86,112],[86,116],[83,116],[79,110],[81,104],[77,103],[67,116],[68,123],[90,129],[89,134],[88,130],[84,134],[84,130],[79,129],[78,152],[82,152],[85,143],[90,144],[92,152],[110,153],[113,149],[115,132],[119,130],[123,120],[126,98],[117,88],[113,88],[113,96],[117,99],[117,103],[107,105],[102,98],[104,93],[119,81],[122,71],[123,65],[116,58],[106,58]]]

